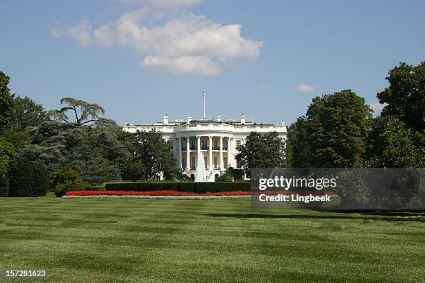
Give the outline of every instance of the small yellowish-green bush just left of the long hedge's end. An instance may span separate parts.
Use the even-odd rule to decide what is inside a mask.
[[[84,182],[77,171],[65,167],[59,170],[55,178],[55,194],[56,196],[64,196],[67,191],[84,191],[90,187],[88,182]]]

